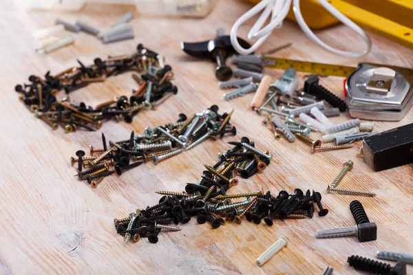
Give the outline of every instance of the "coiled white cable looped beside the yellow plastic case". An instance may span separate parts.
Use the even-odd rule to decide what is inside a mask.
[[[333,17],[336,17],[341,23],[344,25],[348,26],[354,32],[356,32],[363,41],[366,42],[367,44],[367,49],[364,50],[363,52],[347,52],[347,51],[342,51],[342,50],[337,50],[334,47],[331,47],[330,45],[327,45],[321,39],[319,39],[313,31],[308,28],[308,25],[306,24],[306,21],[304,21],[304,18],[301,14],[301,10],[299,8],[299,0],[293,0],[293,10],[295,14],[295,19],[297,19],[298,25],[301,27],[301,30],[310,38],[314,43],[319,45],[320,47],[323,47],[325,50],[328,50],[329,52],[332,52],[333,54],[338,54],[341,56],[346,56],[346,57],[352,57],[352,58],[357,58],[361,56],[366,56],[372,47],[372,42],[370,41],[370,38],[366,34],[365,31],[363,31],[358,25],[356,25],[353,21],[348,19],[344,14],[339,12],[336,8],[334,8],[328,1],[326,0],[317,0],[330,14],[332,14]],[[270,36],[270,34],[273,32],[275,28],[280,28],[282,26],[282,21],[286,18],[288,14],[288,10],[290,9],[292,0],[262,0],[260,3],[257,3],[251,10],[248,10],[245,14],[242,15],[237,21],[235,21],[233,28],[231,29],[231,43],[234,47],[234,49],[239,53],[239,54],[251,54],[255,50],[257,50],[264,41]],[[263,10],[263,11],[262,11]],[[238,28],[240,28],[240,25],[242,25],[245,21],[248,19],[251,19],[251,17],[255,16],[255,14],[258,14],[259,12],[262,11],[262,14],[258,18],[257,22],[253,25],[253,28],[251,28],[250,32],[248,33],[248,39],[250,41],[255,42],[251,47],[245,49],[238,43],[237,41],[237,31]],[[271,13],[271,21],[266,25],[264,28],[262,26],[270,17]]]

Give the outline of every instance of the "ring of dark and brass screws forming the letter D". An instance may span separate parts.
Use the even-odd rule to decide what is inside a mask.
[[[125,122],[132,122],[134,115],[141,109],[151,109],[165,101],[169,96],[176,94],[178,89],[169,80],[173,78],[171,66],[164,65],[160,54],[145,48],[142,44],[137,47],[137,52],[124,56],[109,56],[107,61],[100,58],[94,60],[94,65],[85,66],[78,61],[80,67],[70,69],[45,78],[30,76],[30,84],[17,85],[20,99],[52,129],[60,126],[66,133],[76,131],[78,128],[95,131],[100,129],[103,120],[123,118]],[[139,77],[134,74],[134,79],[140,87],[128,99],[127,96],[114,98],[109,102],[98,104],[96,108],[81,104],[72,104],[68,98],[57,100],[56,94],[65,90],[66,94],[76,89],[81,89],[89,83],[103,82],[109,76],[116,76],[124,72],[140,72]]]

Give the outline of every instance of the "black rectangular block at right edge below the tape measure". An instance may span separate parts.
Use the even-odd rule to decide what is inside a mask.
[[[413,162],[413,123],[366,137],[361,149],[364,161],[374,171]]]

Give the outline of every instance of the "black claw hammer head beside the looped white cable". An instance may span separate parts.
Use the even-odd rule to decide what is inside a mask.
[[[249,47],[243,39],[238,39],[241,45]],[[218,34],[218,37],[209,41],[198,43],[181,43],[182,50],[190,56],[198,58],[210,58],[217,62],[215,76],[221,81],[229,80],[233,75],[231,68],[225,64],[225,59],[235,53],[229,36]]]

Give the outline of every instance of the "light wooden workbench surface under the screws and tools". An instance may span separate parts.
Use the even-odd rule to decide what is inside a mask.
[[[413,188],[412,165],[373,173],[356,156],[360,142],[346,151],[311,154],[309,147],[284,138],[275,140],[269,129],[261,125],[263,117],[248,109],[252,95],[226,102],[224,91],[218,89],[213,74],[215,64],[198,61],[183,54],[180,41],[202,41],[215,36],[215,30],[227,33],[235,19],[250,5],[244,1],[221,0],[205,19],[164,19],[138,15],[132,24],[136,38],[103,45],[93,36],[73,34],[75,45],[42,56],[33,50],[31,32],[47,28],[56,18],[81,20],[98,27],[116,21],[133,6],[86,5],[80,12],[17,10],[3,3],[0,11],[1,89],[0,146],[0,273],[1,274],[321,274],[332,265],[335,274],[357,274],[346,259],[352,254],[374,258],[377,250],[413,252]],[[241,28],[246,36],[251,23]],[[362,49],[362,42],[353,33],[337,26],[319,32],[324,41],[346,49]],[[305,61],[356,65],[363,60],[375,63],[412,67],[413,51],[372,35],[372,52],[366,58],[350,60],[334,56],[314,45],[295,23],[286,21],[260,49],[269,50],[292,42],[288,50],[277,56]],[[178,113],[191,115],[218,104],[220,111],[235,109],[231,122],[237,137],[209,140],[191,151],[167,159],[157,166],[148,163],[121,177],[112,176],[97,189],[74,177],[69,156],[89,144],[100,146],[100,131],[77,131],[65,134],[51,131],[19,102],[14,85],[27,81],[31,74],[43,75],[50,70],[61,72],[75,66],[76,59],[91,63],[94,58],[109,54],[129,54],[143,43],[167,58],[176,75],[179,88],[156,111],[145,111],[134,122],[107,122],[103,125],[108,140],[122,140],[133,129],[142,132],[146,126],[174,121]],[[268,70],[275,78],[282,72]],[[299,74],[301,79],[303,74]],[[342,78],[322,78],[321,83],[342,95]],[[300,86],[302,79],[300,80]],[[95,106],[115,95],[129,95],[136,83],[131,74],[108,79],[103,84],[89,85],[70,95],[74,102],[85,101]],[[63,94],[61,94],[63,97]],[[348,120],[348,115],[334,122]],[[413,110],[400,122],[377,122],[376,129],[385,131],[412,122]],[[123,243],[116,234],[113,219],[127,216],[136,208],[146,208],[160,198],[156,190],[184,190],[185,183],[196,181],[202,164],[214,164],[217,154],[226,151],[226,141],[240,140],[247,135],[257,148],[273,153],[273,162],[264,172],[240,179],[230,192],[308,188],[319,190],[330,213],[313,219],[276,221],[272,227],[242,222],[227,223],[217,230],[195,219],[182,225],[182,231],[160,233],[153,245],[147,240]],[[314,135],[316,137],[316,135]],[[352,159],[354,169],[340,187],[371,190],[377,197],[352,197],[327,194],[326,187],[335,178],[342,163]],[[359,243],[357,238],[315,239],[315,231],[354,225],[349,203],[359,199],[370,220],[378,225],[377,241]],[[279,236],[286,236],[288,246],[263,267],[255,259]],[[394,263],[392,263],[394,265]],[[413,268],[409,267],[410,272]]]

